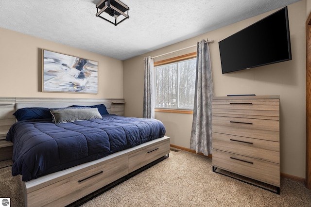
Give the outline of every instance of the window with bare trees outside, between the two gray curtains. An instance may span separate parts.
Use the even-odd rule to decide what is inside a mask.
[[[193,110],[196,52],[155,62],[155,108]]]

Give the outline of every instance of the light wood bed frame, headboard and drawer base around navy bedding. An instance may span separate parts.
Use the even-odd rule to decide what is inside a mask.
[[[15,110],[104,104],[109,113],[124,115],[124,99],[15,98]],[[170,138],[162,137],[91,162],[22,181],[25,206],[67,206],[84,196],[168,155]]]

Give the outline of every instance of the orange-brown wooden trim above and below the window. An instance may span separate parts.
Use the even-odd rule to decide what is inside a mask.
[[[161,60],[161,61],[156,61],[154,62],[154,67],[163,65],[163,64],[170,64],[170,63],[175,63],[178,61],[184,61],[192,58],[196,58],[197,52],[191,52],[185,55],[180,55],[177,57]],[[154,68],[155,70],[155,68]],[[188,113],[188,114],[193,114],[193,109],[162,109],[162,108],[155,108],[155,112],[169,112],[169,113]]]

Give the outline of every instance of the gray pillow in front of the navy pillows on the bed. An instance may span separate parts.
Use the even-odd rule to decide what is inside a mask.
[[[97,108],[67,108],[62,110],[52,110],[51,113],[57,124],[103,118]]]

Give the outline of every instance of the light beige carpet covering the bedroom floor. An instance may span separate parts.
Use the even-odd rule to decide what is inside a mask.
[[[11,203],[23,206],[18,179],[0,169]],[[8,170],[9,169],[9,170]],[[18,182],[17,182],[18,181]],[[20,203],[18,203],[20,202]],[[17,205],[15,205],[17,204]],[[210,158],[179,150],[140,174],[89,200],[83,207],[311,207],[311,190],[281,178],[280,195],[212,172]]]

